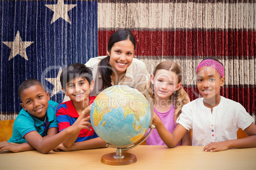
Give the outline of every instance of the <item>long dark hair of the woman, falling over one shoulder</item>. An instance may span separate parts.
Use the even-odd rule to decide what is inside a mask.
[[[134,45],[134,50],[136,48],[136,42],[134,36],[129,30],[117,30],[114,32],[110,39],[108,40],[108,52],[111,52],[111,48],[115,42],[124,41],[129,39]],[[106,89],[111,86],[111,74],[113,73],[112,67],[110,65],[110,56],[106,56],[101,62],[99,62],[99,73],[103,79],[103,86],[101,90]]]

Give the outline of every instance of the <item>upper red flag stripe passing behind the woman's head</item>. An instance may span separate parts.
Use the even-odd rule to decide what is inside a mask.
[[[98,55],[106,55],[114,30],[98,30]],[[256,32],[246,30],[131,31],[137,56],[236,56],[255,55]]]

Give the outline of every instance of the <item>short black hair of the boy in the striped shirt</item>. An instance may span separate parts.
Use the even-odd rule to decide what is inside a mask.
[[[60,83],[62,88],[66,90],[66,85],[69,81],[75,79],[76,77],[82,77],[86,79],[89,84],[92,82],[92,70],[86,67],[82,63],[73,63],[66,67],[60,74]]]

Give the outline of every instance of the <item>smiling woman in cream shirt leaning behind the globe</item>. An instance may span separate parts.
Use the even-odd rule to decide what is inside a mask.
[[[129,30],[117,30],[108,41],[108,55],[91,58],[85,63],[93,69],[94,89],[91,96],[97,96],[113,85],[146,84],[149,74],[145,63],[134,58],[136,42]]]

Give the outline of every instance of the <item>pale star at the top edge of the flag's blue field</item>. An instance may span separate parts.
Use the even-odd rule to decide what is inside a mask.
[[[57,4],[46,4],[45,6],[54,11],[51,23],[55,22],[59,18],[63,18],[67,22],[71,23],[68,11],[72,10],[76,4],[64,4],[64,0],[59,0]]]

